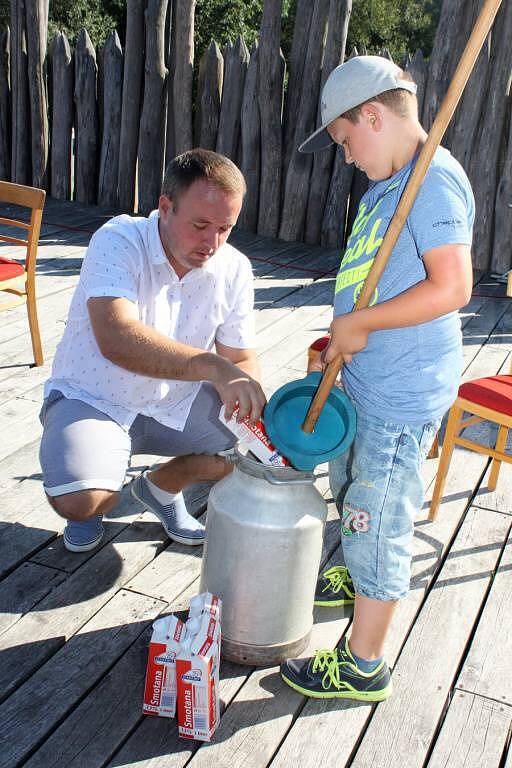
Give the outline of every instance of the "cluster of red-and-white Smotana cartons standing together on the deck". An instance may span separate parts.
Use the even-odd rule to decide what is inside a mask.
[[[143,711],[174,717],[185,739],[210,741],[220,720],[221,601],[192,598],[189,618],[157,619],[149,646]]]

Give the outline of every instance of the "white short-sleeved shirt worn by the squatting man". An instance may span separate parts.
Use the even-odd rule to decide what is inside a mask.
[[[179,280],[162,247],[158,211],[111,219],[91,238],[45,397],[57,389],[126,429],[140,413],[183,430],[200,382],[153,379],[111,363],[96,343],[87,300],[129,299],[141,322],[199,349],[212,350],[216,340],[247,349],[255,344],[252,281],[249,260],[227,243]]]

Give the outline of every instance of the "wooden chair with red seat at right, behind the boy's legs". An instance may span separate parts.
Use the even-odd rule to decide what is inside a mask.
[[[512,367],[510,374],[512,374]],[[490,491],[496,488],[501,462],[512,463],[512,455],[505,453],[508,430],[512,427],[512,375],[510,374],[474,379],[459,387],[457,400],[448,414],[429,520],[435,520],[437,517],[450,460],[456,445],[492,457],[491,473],[487,483]],[[463,420],[462,417],[465,412],[469,413],[470,416]],[[499,425],[494,448],[460,437],[460,433],[465,427],[479,421],[494,421]]]

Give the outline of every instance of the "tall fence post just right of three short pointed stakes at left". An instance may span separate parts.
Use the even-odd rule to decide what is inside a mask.
[[[135,171],[139,143],[140,103],[144,59],[144,3],[127,0],[126,40],[123,71],[119,177],[119,207],[133,211],[135,205]]]

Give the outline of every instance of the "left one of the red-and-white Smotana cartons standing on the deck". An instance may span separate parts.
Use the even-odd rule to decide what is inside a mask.
[[[146,715],[174,717],[176,713],[176,657],[184,635],[185,625],[176,616],[153,622],[142,705]]]

